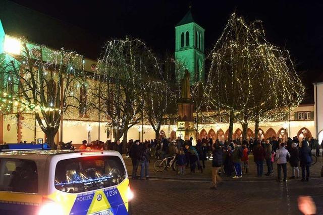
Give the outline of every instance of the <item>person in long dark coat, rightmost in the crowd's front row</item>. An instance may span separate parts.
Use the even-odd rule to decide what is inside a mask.
[[[302,148],[299,150],[299,161],[302,168],[302,179],[301,181],[308,181],[309,178],[309,167],[312,163],[312,152],[308,147],[308,142],[304,139],[302,141]],[[306,169],[306,179],[305,179],[305,169]]]

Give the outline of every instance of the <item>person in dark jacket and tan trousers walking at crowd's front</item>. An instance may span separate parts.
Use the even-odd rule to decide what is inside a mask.
[[[218,175],[219,169],[223,164],[223,152],[220,146],[217,144],[214,147],[212,153],[212,184],[210,186],[211,189],[217,189],[217,181],[221,180],[221,177]]]

